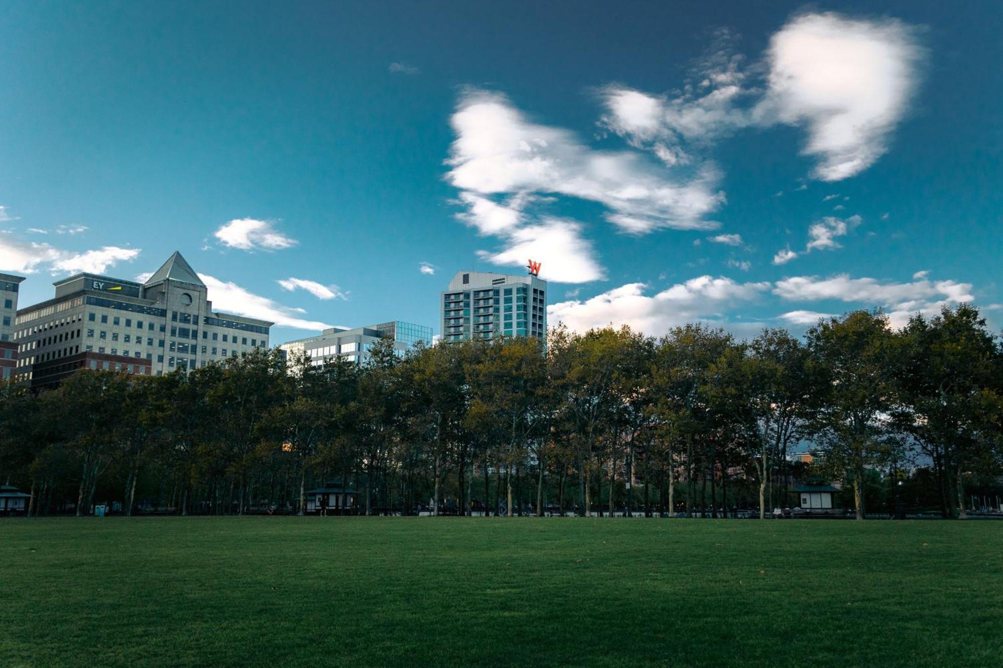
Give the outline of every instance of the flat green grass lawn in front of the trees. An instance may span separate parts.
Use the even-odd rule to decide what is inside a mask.
[[[0,521],[0,665],[999,666],[1003,523]]]

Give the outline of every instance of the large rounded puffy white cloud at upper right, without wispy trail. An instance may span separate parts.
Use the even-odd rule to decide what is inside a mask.
[[[906,112],[921,49],[915,31],[894,19],[802,14],[773,35],[759,118],[803,125],[803,153],[815,178],[840,181],[875,162]]]

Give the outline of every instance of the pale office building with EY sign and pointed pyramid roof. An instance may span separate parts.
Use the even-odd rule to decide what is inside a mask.
[[[218,313],[181,253],[142,283],[96,274],[56,281],[17,311],[17,376],[51,386],[79,368],[162,375],[267,348],[267,320]]]

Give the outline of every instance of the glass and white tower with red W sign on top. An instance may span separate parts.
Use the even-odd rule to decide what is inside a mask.
[[[459,272],[440,296],[445,341],[547,336],[547,281],[530,274]]]

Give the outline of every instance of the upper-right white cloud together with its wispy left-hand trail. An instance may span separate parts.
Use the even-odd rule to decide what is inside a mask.
[[[765,67],[747,73],[730,35],[718,33],[673,97],[603,88],[601,123],[670,165],[693,161],[706,144],[742,127],[799,125],[808,133],[802,152],[819,160],[814,177],[847,179],[887,150],[905,115],[921,54],[914,33],[896,20],[800,14],[772,36]]]

